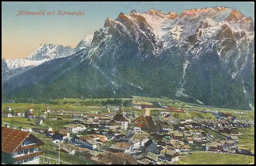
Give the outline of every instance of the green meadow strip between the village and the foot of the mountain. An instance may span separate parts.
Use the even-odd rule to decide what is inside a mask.
[[[46,105],[49,105],[50,109],[63,109],[69,111],[79,111],[79,112],[102,112],[106,113],[108,110],[100,104],[100,101],[106,101],[108,99],[113,100],[113,98],[104,98],[104,99],[54,99],[51,103],[2,103],[2,109],[7,106],[10,106],[14,112],[25,112],[25,110],[29,107],[34,109],[34,112],[37,115],[41,115],[41,111],[46,109]],[[130,100],[130,98],[119,98],[122,101]],[[151,97],[141,97],[141,96],[133,96],[131,98],[133,103],[141,104],[152,104],[153,102],[160,102],[162,105],[165,106],[174,106],[174,107],[183,107],[186,109],[190,117],[193,118],[211,118],[210,114],[197,114],[190,112],[191,110],[202,110],[204,108],[211,109],[211,110],[218,110],[219,112],[243,112],[244,115],[236,114],[237,118],[253,118],[254,112],[248,110],[237,110],[237,109],[224,109],[224,108],[215,108],[215,107],[205,107],[199,104],[193,103],[186,103],[175,99],[168,99],[166,97],[162,98],[151,98]],[[84,107],[83,107],[84,106]],[[248,113],[247,113],[248,112]],[[185,117],[184,117],[185,118]]]

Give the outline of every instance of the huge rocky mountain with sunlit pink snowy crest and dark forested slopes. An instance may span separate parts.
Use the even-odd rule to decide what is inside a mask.
[[[254,106],[254,25],[237,10],[120,13],[115,20],[107,18],[90,39],[86,49],[6,81],[3,96],[143,95],[227,108]]]

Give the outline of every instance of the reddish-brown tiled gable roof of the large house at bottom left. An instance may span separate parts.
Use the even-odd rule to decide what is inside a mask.
[[[33,134],[2,126],[2,152],[13,153],[29,135]],[[44,144],[44,142],[42,143]]]

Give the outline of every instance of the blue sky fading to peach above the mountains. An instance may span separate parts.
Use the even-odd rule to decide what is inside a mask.
[[[40,44],[61,44],[76,47],[80,40],[103,27],[105,19],[116,19],[119,13],[135,9],[145,12],[151,8],[164,13],[180,14],[187,9],[212,7],[237,9],[254,22],[254,3],[250,2],[2,2],[2,58],[28,57]],[[45,15],[18,15],[19,11],[40,12]],[[85,15],[57,15],[57,11]],[[47,12],[56,11],[55,15]],[[18,16],[17,16],[18,15]]]

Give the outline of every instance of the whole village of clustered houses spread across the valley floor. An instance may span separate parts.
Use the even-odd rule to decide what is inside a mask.
[[[186,109],[181,107],[159,106],[159,104],[135,104],[133,107],[137,110],[145,110],[145,114],[133,110],[124,111],[123,104],[106,106],[106,113],[69,112],[51,109],[46,105],[40,116],[33,112],[32,107],[24,113],[14,113],[11,107],[6,107],[2,109],[3,118],[26,119],[27,122],[33,122],[35,127],[22,125],[13,127],[4,123],[2,135],[4,126],[15,130],[14,133],[17,132],[16,130],[32,133],[40,142],[50,140],[49,144],[53,146],[43,145],[46,148],[42,148],[43,154],[40,153],[34,163],[59,162],[59,156],[51,162],[42,157],[54,156],[53,150],[47,147],[57,153],[59,151],[59,155],[61,152],[61,154],[82,156],[91,164],[177,164],[180,159],[193,155],[194,152],[254,156],[251,148],[246,144],[239,144],[239,136],[242,135],[240,131],[253,130],[254,127],[252,120],[236,119],[236,114],[243,113],[230,114],[203,109],[197,111],[212,114],[216,119],[184,120],[178,116],[178,114],[186,114]],[[158,113],[157,116],[150,116],[150,112],[153,111]],[[71,116],[71,119],[67,121],[68,119],[61,116]],[[49,120],[52,123],[47,123]],[[54,121],[61,125],[51,126]],[[17,156],[26,154],[24,150],[24,154],[22,151]],[[61,156],[60,158],[63,159]],[[32,160],[17,161],[17,163],[26,162]]]

